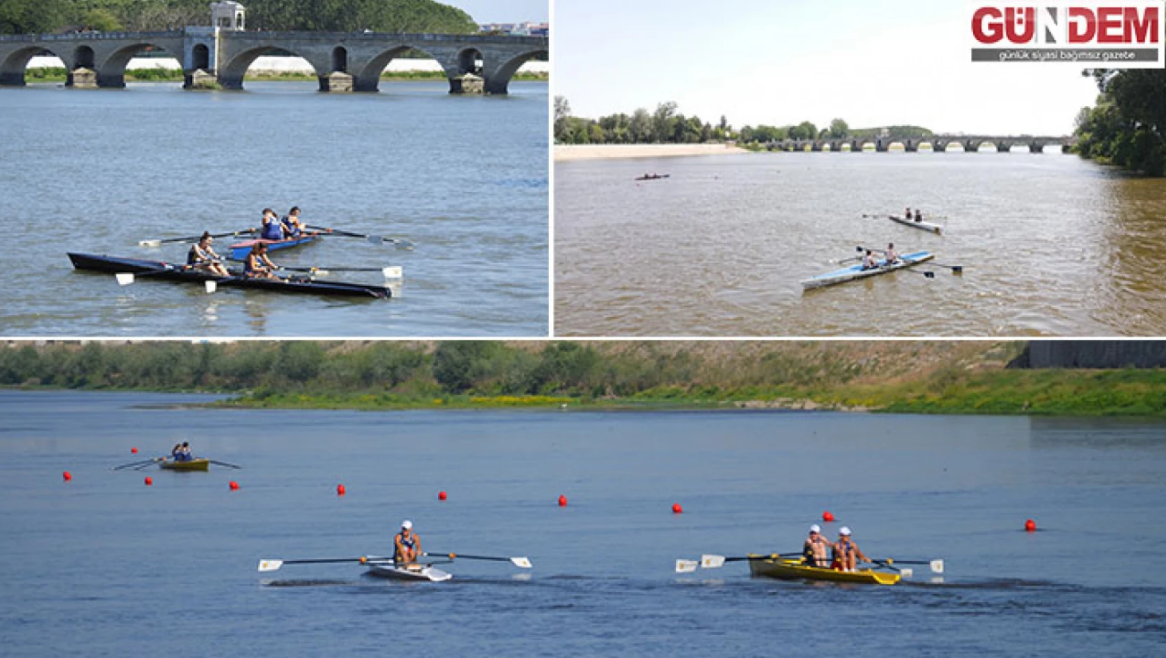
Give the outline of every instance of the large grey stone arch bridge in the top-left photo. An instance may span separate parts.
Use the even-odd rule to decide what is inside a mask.
[[[522,63],[549,52],[545,36],[480,34],[188,27],[170,31],[5,35],[0,36],[0,85],[22,86],[28,62],[48,51],[64,62],[69,86],[124,87],[126,64],[147,47],[164,50],[182,64],[185,89],[213,80],[223,89],[241,90],[244,75],[255,58],[290,52],[311,64],[319,90],[328,92],[374,92],[389,61],[419,50],[444,69],[450,93],[503,94]]]

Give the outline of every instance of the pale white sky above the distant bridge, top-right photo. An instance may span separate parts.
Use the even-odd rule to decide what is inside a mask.
[[[715,123],[1067,134],[1097,87],[1081,69],[971,63],[950,0],[557,0],[552,85],[576,116],[673,100]],[[978,6],[978,3],[977,3]]]

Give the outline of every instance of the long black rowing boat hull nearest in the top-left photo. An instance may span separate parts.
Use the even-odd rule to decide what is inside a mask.
[[[69,260],[79,270],[101,271],[106,274],[143,274],[150,278],[180,281],[184,283],[204,283],[213,281],[218,285],[231,288],[254,288],[274,292],[300,292],[308,295],[336,295],[347,297],[375,297],[387,299],[393,291],[384,285],[366,283],[343,283],[331,281],[314,281],[308,277],[247,278],[240,271],[231,276],[218,276],[206,270],[192,269],[188,266],[173,264],[162,261],[141,259],[121,259],[97,254],[76,254],[70,252]]]

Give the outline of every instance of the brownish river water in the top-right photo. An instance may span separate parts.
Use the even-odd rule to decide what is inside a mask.
[[[667,181],[637,183],[646,171]],[[864,214],[906,206],[933,235]],[[1166,181],[1060,153],[555,165],[561,335],[1160,335]],[[856,247],[943,266],[802,292]],[[850,261],[848,264],[852,264]]]

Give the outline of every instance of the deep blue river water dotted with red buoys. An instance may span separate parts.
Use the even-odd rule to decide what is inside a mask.
[[[6,656],[1166,649],[1160,420],[169,408],[199,399],[0,391]],[[244,468],[111,470],[180,438]],[[866,553],[944,573],[884,588],[673,569],[796,551],[823,510],[831,537],[844,523]],[[534,568],[458,560],[437,585],[257,572],[384,553],[406,517],[429,551]]]

